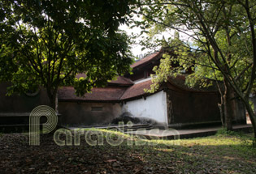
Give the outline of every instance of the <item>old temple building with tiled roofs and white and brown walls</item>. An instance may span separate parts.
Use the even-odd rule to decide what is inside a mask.
[[[220,124],[219,91],[215,85],[189,88],[186,75],[169,78],[158,91],[146,93],[152,84],[150,74],[158,66],[163,52],[135,62],[132,74],[119,76],[106,87],[93,88],[91,93],[76,96],[73,87],[59,87],[59,113],[62,125],[111,125],[119,117],[133,117],[156,127],[170,125]],[[80,74],[83,76],[83,74]],[[38,105],[49,104],[46,91],[6,96],[8,83],[0,84],[0,122],[2,125],[27,124],[29,112]],[[236,102],[233,121],[246,124],[245,107]]]

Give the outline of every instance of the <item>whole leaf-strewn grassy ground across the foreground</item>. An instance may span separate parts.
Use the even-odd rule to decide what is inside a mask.
[[[57,146],[50,134],[41,135],[41,146],[28,146],[28,134],[2,134],[0,173],[14,168],[24,173],[256,173],[253,134],[219,131],[206,138],[145,140],[112,130],[93,131],[103,135],[103,146],[89,146],[85,136],[80,146]],[[107,137],[124,141],[111,146]]]

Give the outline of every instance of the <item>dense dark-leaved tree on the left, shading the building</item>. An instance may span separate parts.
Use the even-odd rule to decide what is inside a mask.
[[[118,32],[134,1],[1,1],[1,81],[8,94],[46,88],[57,111],[57,91],[77,95],[106,85],[132,63],[128,37]],[[7,66],[6,66],[7,65]],[[76,79],[76,74],[85,78]]]

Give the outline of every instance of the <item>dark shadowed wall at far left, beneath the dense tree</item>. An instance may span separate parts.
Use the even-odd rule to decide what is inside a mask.
[[[38,105],[48,105],[49,100],[44,89],[35,96],[25,94],[7,96],[8,83],[0,84],[0,112],[31,112]]]

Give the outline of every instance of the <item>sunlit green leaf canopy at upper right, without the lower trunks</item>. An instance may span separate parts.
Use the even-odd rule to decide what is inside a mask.
[[[167,41],[169,49],[174,49],[173,52],[178,57],[176,60],[172,57],[171,62],[179,62],[184,69],[194,66],[194,74],[191,74],[187,80],[190,87],[195,83],[207,87],[205,78],[223,80],[223,67],[227,66],[228,72],[226,70],[225,75],[235,81],[237,87],[244,90],[250,80],[248,77],[252,70],[253,51],[250,46],[252,43],[249,23],[244,20],[246,13],[242,3],[244,2],[211,0],[141,1],[139,8],[144,21],[138,24],[148,26],[150,31],[148,41],[144,41],[145,44],[150,40],[161,43],[161,40],[154,40],[154,36],[176,31],[175,39]],[[250,1],[249,3],[254,4]],[[251,8],[249,10],[253,11],[254,7]],[[179,38],[179,32],[189,36],[187,43],[179,44],[184,42],[176,39]],[[214,60],[216,48],[219,57]],[[160,81],[160,79],[155,80],[157,83]]]

